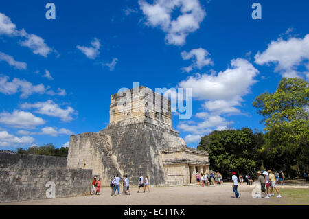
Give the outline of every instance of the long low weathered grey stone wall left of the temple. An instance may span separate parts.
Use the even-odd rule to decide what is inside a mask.
[[[67,157],[0,153],[0,203],[47,198],[49,181],[56,198],[89,194],[92,170],[66,165]]]

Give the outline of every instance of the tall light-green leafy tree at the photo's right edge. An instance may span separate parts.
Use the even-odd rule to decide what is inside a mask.
[[[265,122],[264,163],[289,175],[293,165],[298,174],[308,171],[308,85],[301,78],[282,78],[275,93],[262,93],[253,102]]]

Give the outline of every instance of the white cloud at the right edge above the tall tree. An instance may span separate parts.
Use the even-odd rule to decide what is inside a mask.
[[[271,41],[267,49],[255,55],[255,63],[258,65],[275,64],[275,72],[284,77],[306,76],[308,72],[299,72],[297,67],[304,65],[308,68],[309,62],[309,34],[304,38],[291,37],[288,40],[282,38]]]

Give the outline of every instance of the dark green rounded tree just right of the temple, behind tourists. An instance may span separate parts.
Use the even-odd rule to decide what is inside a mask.
[[[255,173],[262,162],[258,159],[261,135],[250,128],[220,130],[202,137],[198,149],[209,152],[210,168],[223,174]]]

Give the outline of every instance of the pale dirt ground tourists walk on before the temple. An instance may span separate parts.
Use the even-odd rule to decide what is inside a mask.
[[[241,197],[234,198],[231,183],[210,187],[150,187],[150,192],[146,193],[137,193],[137,187],[131,187],[130,196],[111,196],[111,188],[102,187],[98,196],[49,198],[2,205],[309,205],[308,185],[278,186],[282,198],[274,196],[268,199],[253,198],[251,192],[254,188],[253,185],[239,185],[238,192]]]

